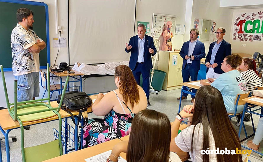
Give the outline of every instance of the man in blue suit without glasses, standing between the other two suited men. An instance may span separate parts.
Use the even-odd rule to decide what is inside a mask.
[[[199,35],[198,29],[191,29],[190,31],[190,41],[184,42],[181,51],[179,52],[180,56],[184,59],[182,66],[182,77],[183,82],[189,82],[197,80],[198,70],[200,70],[200,59],[204,58],[205,50],[204,43],[197,40]],[[186,90],[186,87],[184,87]],[[196,93],[197,90],[192,90]],[[182,100],[187,98],[187,93],[183,93]],[[180,97],[177,98],[180,100]],[[191,103],[194,103],[194,96],[192,95]]]

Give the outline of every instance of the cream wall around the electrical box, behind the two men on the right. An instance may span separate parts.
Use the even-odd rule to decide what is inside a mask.
[[[194,1],[193,3],[193,11],[192,11],[192,23],[191,28],[194,27],[194,19],[198,18],[201,22],[202,19],[212,20],[216,22],[216,28],[223,27],[226,30],[224,39],[225,41],[229,42],[229,36],[231,32],[231,22],[232,22],[232,15],[233,9],[229,9],[226,7],[219,7],[220,1],[214,0],[198,0]],[[200,27],[200,25],[199,25]],[[199,33],[201,33],[200,27]],[[187,34],[186,34],[187,35]],[[189,37],[189,34],[188,34]],[[201,36],[202,37],[202,36]],[[212,42],[209,41],[202,41],[205,47],[205,53],[208,53],[209,44]]]

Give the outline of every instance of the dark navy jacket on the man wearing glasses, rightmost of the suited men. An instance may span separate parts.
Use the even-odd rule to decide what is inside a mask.
[[[210,62],[211,55],[212,55],[212,49],[214,45],[215,45],[215,42],[210,44],[207,56],[205,58],[205,63]],[[217,63],[217,67],[214,68],[215,73],[217,74],[224,73],[224,71],[221,70],[221,63],[223,62],[224,58],[228,55],[231,55],[231,44],[223,40],[215,55],[214,63]],[[206,69],[206,72],[208,71],[208,69],[209,68]]]

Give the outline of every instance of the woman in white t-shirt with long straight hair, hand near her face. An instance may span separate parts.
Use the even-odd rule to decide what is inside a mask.
[[[184,118],[188,118],[189,127],[177,135]],[[242,162],[241,155],[221,155],[219,151],[225,151],[225,148],[235,150],[235,153],[237,148],[241,150],[238,134],[230,123],[220,91],[204,85],[197,90],[194,104],[184,106],[176,116],[172,124],[170,151],[189,152],[193,162]]]

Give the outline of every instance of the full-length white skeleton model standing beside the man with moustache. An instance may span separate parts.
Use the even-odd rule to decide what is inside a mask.
[[[153,38],[153,43],[154,43],[154,46],[155,48],[157,49],[157,52],[154,56],[152,56],[152,72],[151,72],[151,82],[150,82],[150,88],[152,90],[152,92],[156,92],[158,94],[157,91],[153,91],[153,87],[152,87],[152,77],[153,77],[153,70],[154,70],[154,67],[155,67],[155,64],[156,64],[156,55],[159,55],[159,45],[160,45],[160,40],[158,38],[155,38],[155,34],[157,33],[157,29],[156,28],[152,28],[151,29],[151,32],[152,32],[152,38]]]

